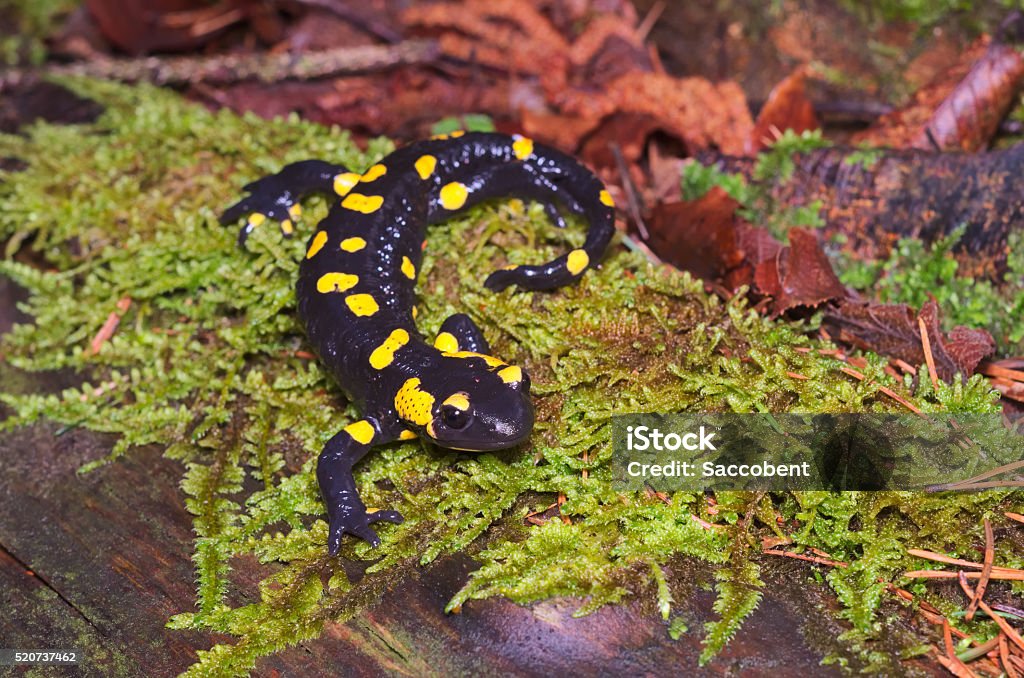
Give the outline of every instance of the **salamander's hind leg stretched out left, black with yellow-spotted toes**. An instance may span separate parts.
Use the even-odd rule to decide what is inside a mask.
[[[276,174],[264,176],[246,184],[243,189],[249,196],[231,205],[220,215],[222,224],[234,223],[247,217],[246,224],[239,231],[239,245],[244,245],[254,228],[267,219],[281,225],[286,238],[295,232],[295,221],[302,214],[299,201],[314,193],[328,194],[347,192],[354,181],[346,177],[354,176],[341,165],[332,165],[322,160],[304,160],[286,165]]]

